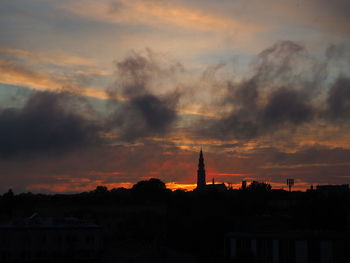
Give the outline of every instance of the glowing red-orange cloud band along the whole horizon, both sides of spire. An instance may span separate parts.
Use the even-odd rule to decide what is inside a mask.
[[[315,155],[315,151],[318,154]],[[205,150],[207,181],[210,184],[212,177],[215,177],[215,181],[229,182],[237,189],[241,186],[241,180],[257,180],[270,183],[273,189],[287,189],[286,178],[294,178],[295,190],[305,190],[311,184],[340,184],[346,181],[344,176],[347,176],[350,167],[348,151],[314,149],[310,153],[313,160],[308,159],[308,154],[307,151],[281,153],[273,149],[245,154]],[[310,166],[305,163],[308,160]],[[323,165],[333,161],[343,166]],[[174,145],[155,142],[104,146],[60,158],[34,159],[21,166],[4,160],[0,164],[3,174],[8,175],[2,178],[3,191],[18,185],[18,182],[22,189],[35,192],[91,191],[98,185],[109,189],[130,188],[134,183],[151,177],[166,182],[170,189],[191,190],[196,183],[198,147],[182,150]],[[286,169],[288,167],[295,169]]]

